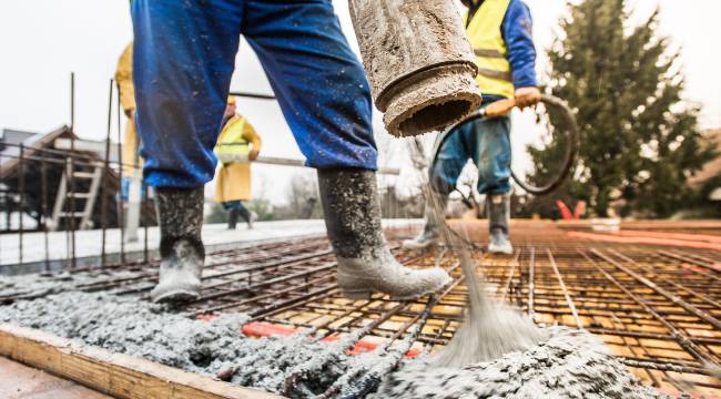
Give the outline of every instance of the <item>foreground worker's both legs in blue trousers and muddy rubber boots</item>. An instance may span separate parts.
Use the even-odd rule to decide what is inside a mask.
[[[197,298],[203,185],[243,34],[296,142],[317,168],[341,289],[416,298],[450,282],[390,254],[380,227],[368,82],[329,0],[134,0],[134,81],[145,182],[161,226],[155,301]]]

